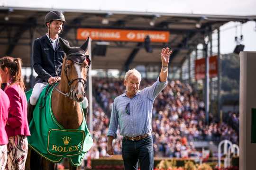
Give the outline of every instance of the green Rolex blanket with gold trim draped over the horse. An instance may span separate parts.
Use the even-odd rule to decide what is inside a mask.
[[[52,112],[52,86],[47,86],[37,101],[29,124],[31,136],[28,145],[48,161],[58,163],[68,157],[73,166],[79,166],[93,142],[85,118],[78,129],[64,129]],[[32,90],[26,93],[27,101]],[[81,107],[82,109],[82,107]]]

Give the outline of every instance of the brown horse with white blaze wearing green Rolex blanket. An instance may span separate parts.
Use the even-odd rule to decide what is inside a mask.
[[[70,47],[60,39],[65,52],[61,80],[43,89],[29,125],[32,135],[28,138],[30,154],[26,165],[31,170],[36,170],[37,164],[53,168],[65,157],[71,170],[77,170],[93,144],[80,104],[85,98],[91,65],[86,55],[89,42],[88,38],[81,47]],[[26,93],[27,100],[31,92]]]

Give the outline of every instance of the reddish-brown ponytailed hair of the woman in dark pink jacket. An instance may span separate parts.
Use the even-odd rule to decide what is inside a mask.
[[[0,59],[0,68],[9,68],[11,75],[11,84],[18,83],[21,89],[25,90],[25,85],[21,76],[22,61],[20,58],[3,57]]]

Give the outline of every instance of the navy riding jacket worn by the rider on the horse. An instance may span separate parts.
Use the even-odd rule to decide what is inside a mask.
[[[69,44],[66,40],[64,42]],[[61,76],[64,51],[60,47],[59,40],[54,50],[46,34],[37,38],[33,47],[33,59],[33,67],[38,75],[36,83],[48,83],[51,76]]]

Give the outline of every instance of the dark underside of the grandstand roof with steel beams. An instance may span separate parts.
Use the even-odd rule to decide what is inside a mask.
[[[155,30],[168,31],[170,34],[168,42],[151,42],[152,53],[146,52],[143,42],[110,41],[105,57],[92,56],[93,69],[124,70],[137,65],[158,65],[159,54],[164,46],[174,50],[171,64],[181,66],[186,56],[204,41],[204,35],[209,34],[209,31],[229,21],[256,21],[256,16],[0,7],[0,56],[20,57],[23,66],[29,67],[31,40],[46,34],[44,17],[50,10],[64,12],[67,22],[61,37],[72,46],[83,42],[76,39],[78,28]],[[105,24],[102,24],[103,19]],[[92,49],[95,43],[92,42]]]

